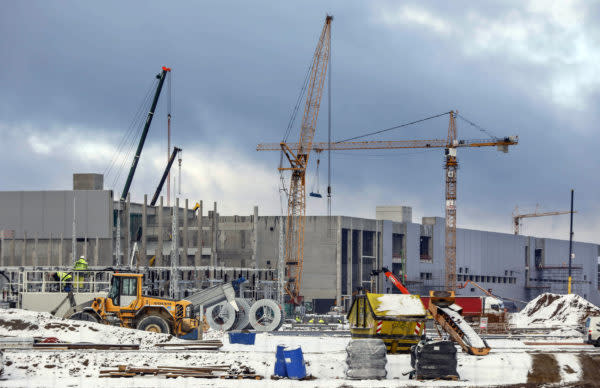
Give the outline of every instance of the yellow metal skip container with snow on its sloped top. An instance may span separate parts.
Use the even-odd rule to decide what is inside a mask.
[[[408,352],[425,331],[427,311],[419,295],[357,295],[350,312],[352,338],[381,338],[388,353]]]

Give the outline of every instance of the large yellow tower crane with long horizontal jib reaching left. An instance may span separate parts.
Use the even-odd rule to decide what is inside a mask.
[[[374,150],[374,149],[404,149],[404,148],[444,148],[444,169],[446,180],[446,235],[445,235],[445,288],[449,291],[456,289],[456,172],[458,148],[497,147],[498,151],[508,152],[508,147],[519,143],[518,136],[507,136],[491,139],[460,140],[456,132],[457,112],[450,111],[448,138],[433,140],[399,140],[399,141],[348,141],[337,143],[314,143],[313,151],[323,150]],[[299,143],[263,143],[256,147],[257,151],[279,151],[285,146],[289,152],[300,149]]]

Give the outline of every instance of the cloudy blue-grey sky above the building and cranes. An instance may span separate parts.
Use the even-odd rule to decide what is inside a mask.
[[[105,187],[117,197],[132,155],[121,163],[127,153],[116,150],[167,65],[181,197],[217,201],[222,214],[253,205],[279,214],[279,154],[255,148],[282,139],[330,13],[334,139],[456,109],[496,136],[519,136],[507,154],[459,149],[459,227],[511,233],[515,206],[568,210],[574,188],[575,237],[600,243],[599,9],[549,0],[5,2],[0,190],[70,189],[74,172],[109,172]],[[152,195],[166,164],[167,95],[134,200]],[[317,141],[328,109],[324,98]],[[457,125],[459,138],[485,137]],[[365,140],[444,139],[447,128],[445,116]],[[441,149],[335,152],[331,163],[336,215],[374,218],[376,205],[412,206],[414,222],[444,214]],[[313,165],[309,190],[315,175]],[[325,156],[319,181],[324,193]],[[326,214],[326,200],[309,198],[307,212]],[[561,239],[568,231],[568,216],[523,227]]]

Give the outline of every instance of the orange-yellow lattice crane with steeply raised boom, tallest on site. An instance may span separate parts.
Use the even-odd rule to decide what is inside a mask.
[[[285,292],[293,304],[301,301],[302,266],[304,263],[304,217],[306,214],[306,168],[313,150],[313,139],[321,106],[323,86],[329,64],[331,47],[331,22],[333,16],[327,15],[321,30],[321,36],[313,56],[306,92],[306,104],[300,126],[300,141],[295,148],[285,142],[278,144],[278,150],[286,156],[289,167],[279,167],[279,171],[291,171],[290,190],[285,234],[285,268],[287,282]]]

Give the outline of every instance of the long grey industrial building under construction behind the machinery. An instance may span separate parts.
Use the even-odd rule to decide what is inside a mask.
[[[188,200],[179,207],[127,203],[117,256],[118,203],[102,189],[101,176],[89,175],[95,174],[76,174],[74,190],[0,192],[0,267],[69,266],[80,255],[96,267],[127,264],[132,257],[141,266],[151,258],[169,266],[175,257],[178,266],[207,268],[211,279],[254,270],[255,282],[276,280],[285,218],[258,216],[258,208],[249,216],[222,216],[216,204],[207,212],[192,209]],[[308,216],[301,293],[316,311],[326,311],[334,304],[348,307],[359,288],[395,292],[382,276],[371,276],[383,266],[415,293],[442,289],[444,233],[443,218],[414,223],[410,207],[378,207],[375,219]],[[516,301],[566,292],[568,241],[458,228],[456,242],[459,283],[471,280]],[[573,247],[573,291],[598,305],[600,246]],[[228,268],[234,271],[223,275]],[[469,284],[458,293],[480,291]]]

